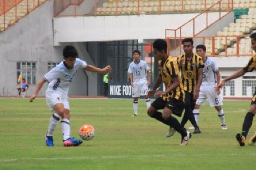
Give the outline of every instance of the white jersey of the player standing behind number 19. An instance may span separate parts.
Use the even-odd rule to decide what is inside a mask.
[[[215,78],[215,72],[218,70],[219,68],[215,61],[207,57],[206,61],[204,61],[202,85],[215,84],[217,82]]]

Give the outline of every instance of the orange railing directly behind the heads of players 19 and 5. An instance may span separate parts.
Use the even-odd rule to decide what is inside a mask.
[[[182,40],[193,38],[194,47],[199,44],[206,46],[207,56],[251,56],[254,54],[251,49],[251,39],[249,35],[233,36],[196,36],[196,37],[169,37],[167,38],[170,56],[183,54]],[[195,50],[195,48],[194,48]]]

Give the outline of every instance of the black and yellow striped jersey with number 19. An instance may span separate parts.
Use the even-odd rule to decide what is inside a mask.
[[[202,58],[195,53],[193,54],[191,60],[187,60],[185,54],[178,56],[178,64],[181,58],[185,58],[185,61],[182,63],[182,65],[179,65],[181,68],[181,81],[184,87],[184,91],[192,93],[197,90],[198,69],[204,67],[204,62]]]

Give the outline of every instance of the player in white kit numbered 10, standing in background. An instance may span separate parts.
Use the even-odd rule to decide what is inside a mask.
[[[138,98],[140,94],[145,96],[147,108],[151,105],[149,97],[146,97],[151,84],[150,68],[145,61],[140,59],[140,54],[139,50],[132,52],[133,62],[130,63],[128,69],[129,79],[133,87],[133,116],[138,116]]]

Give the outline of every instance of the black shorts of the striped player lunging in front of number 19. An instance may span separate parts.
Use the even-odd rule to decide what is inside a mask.
[[[175,98],[170,98],[169,101],[164,101],[162,98],[159,97],[155,99],[151,106],[154,107],[156,110],[164,109],[165,107],[167,107],[172,110],[173,114],[179,117],[182,116],[182,112],[184,110],[184,103]]]

